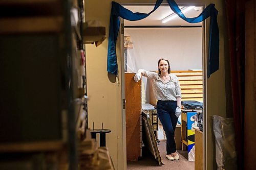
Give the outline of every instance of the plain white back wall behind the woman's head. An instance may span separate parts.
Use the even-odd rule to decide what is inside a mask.
[[[202,69],[202,28],[125,28],[124,35],[134,43],[127,50],[127,71],[157,70],[160,58],[172,70]]]

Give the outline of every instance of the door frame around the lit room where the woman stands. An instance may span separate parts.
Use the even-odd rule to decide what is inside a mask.
[[[130,0],[131,3],[120,3],[122,6],[124,5],[152,5],[153,3],[133,3],[132,0]],[[209,4],[208,1],[197,1],[197,3],[191,3],[191,1],[185,0],[181,3],[178,3],[179,1],[176,1],[176,3],[179,6],[188,6],[188,5],[196,5],[196,6],[202,6],[202,11],[205,9],[205,7]],[[208,4],[207,4],[207,3]],[[162,3],[161,5],[168,5],[168,3]],[[123,104],[123,100],[125,101],[125,79],[124,79],[124,32],[123,32],[123,23],[124,19],[120,17],[120,29],[119,29],[119,40],[120,40],[120,50],[121,50],[121,103]],[[205,129],[208,126],[207,123],[207,42],[209,40],[209,34],[207,31],[209,30],[210,22],[207,20],[202,21],[202,69],[203,69],[203,169],[207,169],[207,130]],[[123,158],[123,166],[122,169],[127,169],[127,163],[126,163],[126,123],[125,123],[125,108],[122,107],[122,134],[123,134],[123,150],[122,155]],[[119,154],[118,154],[119,155]],[[119,167],[119,165],[118,165]],[[120,167],[121,168],[121,167]]]

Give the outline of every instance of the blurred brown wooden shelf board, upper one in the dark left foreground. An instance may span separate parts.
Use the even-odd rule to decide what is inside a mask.
[[[1,18],[0,34],[60,32],[62,17]]]

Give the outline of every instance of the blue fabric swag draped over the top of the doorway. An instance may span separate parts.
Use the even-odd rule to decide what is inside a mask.
[[[111,15],[110,15],[110,30],[109,30],[109,46],[108,46],[108,72],[111,74],[118,74],[117,57],[116,57],[116,40],[119,32],[120,20],[123,19],[135,21],[140,20],[151,13],[153,13],[163,2],[157,0],[154,9],[148,13],[132,12],[116,2],[112,2]],[[219,69],[219,27],[217,23],[218,11],[215,4],[208,5],[202,13],[194,18],[186,18],[174,0],[167,0],[170,8],[183,20],[189,23],[201,22],[210,16],[210,34],[209,34],[209,54],[208,54],[208,70],[207,77],[209,78],[212,73]]]

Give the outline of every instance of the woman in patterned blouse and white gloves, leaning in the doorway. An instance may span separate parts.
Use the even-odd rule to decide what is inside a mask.
[[[174,139],[176,124],[181,114],[181,90],[178,78],[170,73],[167,59],[158,60],[158,73],[139,69],[134,76],[135,82],[141,75],[152,80],[152,87],[157,99],[157,114],[166,134],[166,158],[179,160]]]

